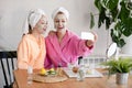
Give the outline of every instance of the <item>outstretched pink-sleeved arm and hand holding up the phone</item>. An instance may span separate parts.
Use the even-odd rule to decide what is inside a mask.
[[[97,41],[97,34],[92,33],[95,36],[95,40],[81,40],[77,35],[73,37],[74,46],[75,47],[75,54],[77,56],[87,56],[92,52],[94,44]]]

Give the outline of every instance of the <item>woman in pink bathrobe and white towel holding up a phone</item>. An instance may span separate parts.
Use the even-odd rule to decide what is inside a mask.
[[[51,32],[46,40],[46,68],[75,64],[79,56],[91,53],[97,35],[94,40],[81,40],[67,29],[69,12],[65,8],[56,9],[52,14],[55,32]]]

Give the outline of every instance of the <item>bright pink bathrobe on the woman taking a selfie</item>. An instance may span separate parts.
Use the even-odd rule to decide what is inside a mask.
[[[58,43],[56,34],[51,34],[46,38],[45,68],[57,67],[59,64],[66,67],[68,63],[75,63],[79,56],[91,53],[94,47],[87,47],[86,41],[67,30],[66,35]]]

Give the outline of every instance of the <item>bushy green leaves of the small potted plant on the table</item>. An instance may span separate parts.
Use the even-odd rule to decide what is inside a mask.
[[[109,72],[109,76],[117,73],[130,73],[132,69],[132,58],[112,58],[101,63],[101,65],[107,66],[106,69]]]

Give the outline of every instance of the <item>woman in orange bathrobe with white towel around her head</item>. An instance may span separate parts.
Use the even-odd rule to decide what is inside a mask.
[[[47,29],[47,16],[42,9],[30,11],[24,24],[23,37],[18,47],[18,68],[33,69],[44,67],[45,40],[42,35]]]

